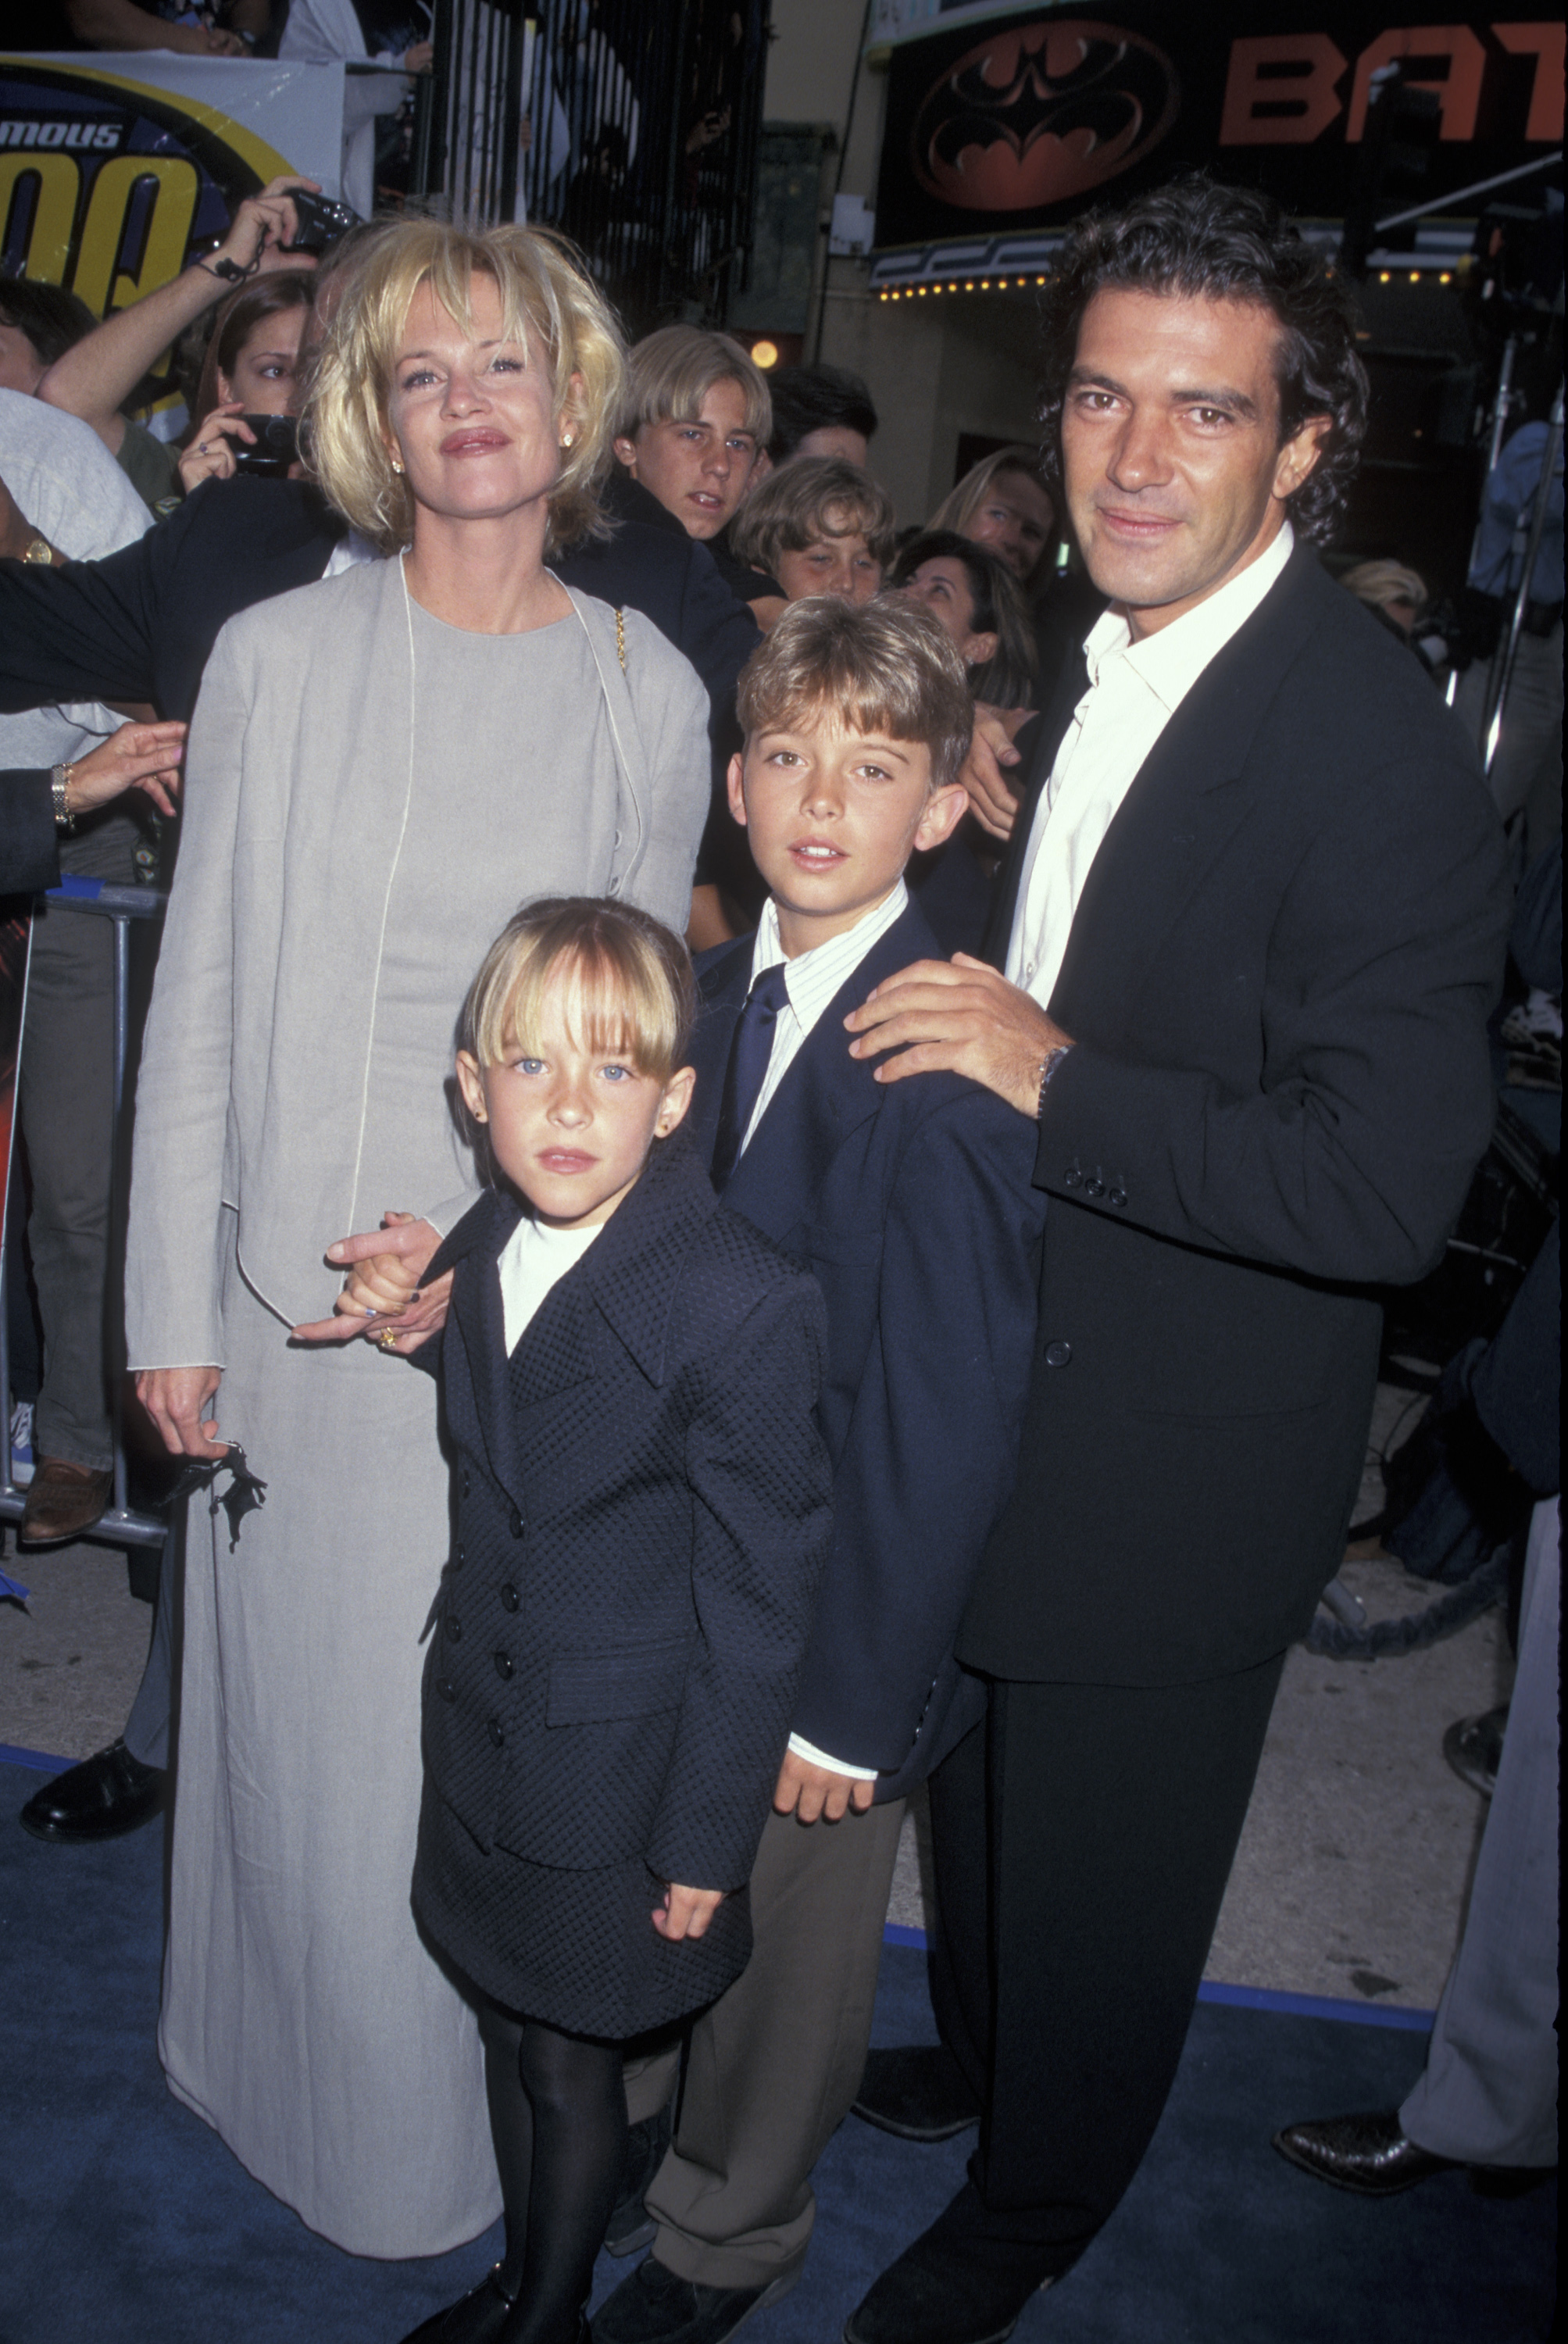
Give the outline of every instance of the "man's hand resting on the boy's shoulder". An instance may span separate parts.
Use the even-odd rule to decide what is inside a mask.
[[[1071,1041],[1017,984],[968,952],[952,961],[914,961],[872,987],[844,1020],[851,1057],[898,1050],[877,1067],[879,1083],[909,1074],[963,1074],[1034,1120],[1041,1067]]]

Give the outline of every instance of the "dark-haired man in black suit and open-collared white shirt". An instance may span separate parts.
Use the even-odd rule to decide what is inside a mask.
[[[863,2112],[980,2119],[851,2344],[994,2344],[1158,2124],[1284,1650],[1343,1552],[1373,1285],[1441,1252],[1491,1130],[1507,926],[1474,755],[1320,570],[1355,464],[1348,305],[1200,180],[1069,239],[1043,420],[1109,612],[1036,741],[989,959],[848,1020],[1038,1118],[1050,1193],[1013,1500],[933,1777],[940,2053]],[[1085,689],[1088,682],[1088,689]]]

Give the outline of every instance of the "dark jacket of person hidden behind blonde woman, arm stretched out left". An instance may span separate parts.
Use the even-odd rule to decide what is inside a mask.
[[[0,560],[0,710],[52,701],[152,701],[190,717],[220,628],[309,586],[342,520],[305,481],[204,481],[155,530],[98,563]],[[757,626],[701,546],[626,520],[555,565],[567,586],[640,609],[701,675],[717,715]]]

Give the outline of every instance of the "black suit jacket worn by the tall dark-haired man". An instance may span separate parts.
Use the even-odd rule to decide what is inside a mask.
[[[1043,727],[989,954],[1055,748]],[[959,1655],[1195,1683],[1310,1622],[1380,1313],[1486,1149],[1502,837],[1458,722],[1298,546],[1181,701],[1090,870],[1050,1015],[1050,1193],[1017,1486]]]

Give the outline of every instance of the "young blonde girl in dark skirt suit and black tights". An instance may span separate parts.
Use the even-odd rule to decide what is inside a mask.
[[[677,1130],[691,1013],[684,945],[584,898],[518,912],[462,1013],[497,1188],[427,1270],[457,1488],[413,1901],[478,2009],[506,2260],[420,2344],[586,2339],[621,2046],[750,1953],[830,1531],[825,1320]]]

